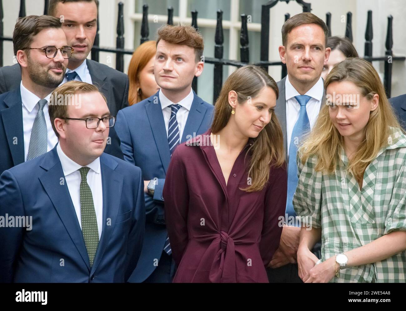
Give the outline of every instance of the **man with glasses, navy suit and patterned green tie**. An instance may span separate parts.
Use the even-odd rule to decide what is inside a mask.
[[[0,283],[125,282],[145,231],[141,170],[103,152],[115,117],[96,86],[67,82],[48,109],[58,145],[0,177],[1,214],[33,220],[0,226]]]

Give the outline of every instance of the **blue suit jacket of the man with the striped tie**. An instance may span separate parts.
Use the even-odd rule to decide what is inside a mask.
[[[214,106],[194,92],[181,143],[193,135],[204,134],[212,123]],[[124,160],[139,166],[144,180],[157,178],[154,196],[145,194],[147,213],[143,250],[130,282],[143,282],[155,270],[167,236],[164,217],[164,187],[171,153],[158,93],[124,108],[117,114],[117,134],[121,140]]]

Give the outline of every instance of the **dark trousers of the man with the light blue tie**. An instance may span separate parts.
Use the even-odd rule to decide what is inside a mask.
[[[317,242],[312,253],[317,256],[318,259],[322,258],[321,255],[322,241]],[[299,277],[298,264],[288,263],[285,266],[279,268],[266,268],[268,274],[269,283],[303,283]]]

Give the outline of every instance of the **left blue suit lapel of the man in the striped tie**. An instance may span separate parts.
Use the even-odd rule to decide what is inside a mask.
[[[149,125],[151,126],[152,134],[155,140],[158,153],[161,158],[162,166],[166,174],[166,170],[171,160],[171,152],[169,150],[168,136],[166,136],[166,128],[164,115],[162,114],[161,102],[159,100],[159,91],[155,95],[149,97],[149,103],[145,105]]]

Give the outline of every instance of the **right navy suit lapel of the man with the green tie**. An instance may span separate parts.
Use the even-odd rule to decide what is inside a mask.
[[[120,206],[121,191],[123,190],[123,175],[114,171],[118,163],[108,155],[100,156],[103,189],[103,229],[92,266],[94,272],[103,257],[110,240]],[[109,223],[107,222],[109,220]]]

